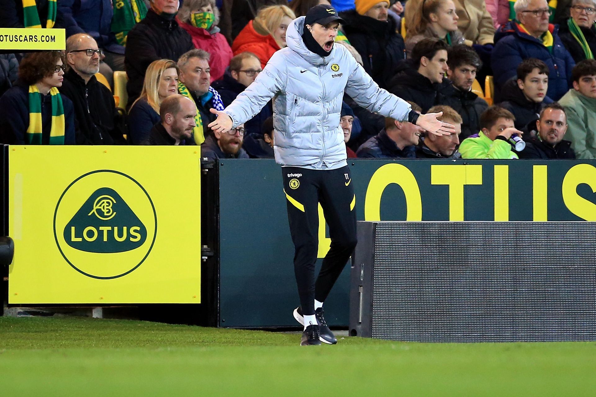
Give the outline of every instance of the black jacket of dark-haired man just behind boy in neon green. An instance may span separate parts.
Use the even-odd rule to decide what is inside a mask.
[[[488,104],[471,91],[462,91],[453,84],[445,85],[441,90],[441,105],[452,107],[461,115],[460,140],[480,131],[480,114],[488,109]]]

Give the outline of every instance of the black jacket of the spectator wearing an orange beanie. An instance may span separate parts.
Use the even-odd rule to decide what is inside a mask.
[[[387,88],[399,61],[406,57],[403,37],[396,32],[395,20],[389,17],[387,22],[378,21],[355,10],[342,12],[340,16],[346,21],[343,32],[361,55],[364,70],[381,88]]]

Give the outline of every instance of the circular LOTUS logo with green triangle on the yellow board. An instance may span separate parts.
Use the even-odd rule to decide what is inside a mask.
[[[151,252],[156,236],[157,214],[147,190],[120,171],[78,177],[54,211],[60,254],[94,279],[116,279],[134,271]]]

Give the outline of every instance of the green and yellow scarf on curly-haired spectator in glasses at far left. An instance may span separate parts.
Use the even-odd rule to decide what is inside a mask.
[[[64,145],[64,107],[56,87],[49,90],[52,95],[52,129],[49,132],[50,145]],[[42,144],[41,93],[36,85],[29,86],[29,127],[25,135],[29,145]]]

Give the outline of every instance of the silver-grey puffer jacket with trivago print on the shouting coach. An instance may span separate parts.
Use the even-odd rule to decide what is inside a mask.
[[[339,126],[344,90],[361,107],[407,120],[411,106],[380,89],[344,46],[328,57],[309,51],[302,40],[305,17],[286,32],[287,47],[275,52],[262,73],[224,111],[234,127],[273,100],[275,161],[281,165],[343,166],[346,145]]]

